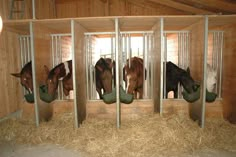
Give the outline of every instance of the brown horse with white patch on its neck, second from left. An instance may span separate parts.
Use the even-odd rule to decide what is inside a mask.
[[[44,69],[48,74],[46,80],[48,94],[55,95],[58,88],[58,80],[62,80],[63,93],[68,96],[70,90],[73,90],[72,60],[58,64],[51,71],[46,65],[44,65]]]

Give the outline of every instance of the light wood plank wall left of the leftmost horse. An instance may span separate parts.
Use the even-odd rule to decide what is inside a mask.
[[[20,109],[22,88],[20,79],[11,73],[20,72],[18,34],[3,31],[0,36],[0,118]]]

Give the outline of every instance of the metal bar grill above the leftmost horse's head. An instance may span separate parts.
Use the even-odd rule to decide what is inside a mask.
[[[21,67],[31,61],[31,43],[30,35],[20,35],[18,37],[20,43]],[[22,87],[23,94],[26,94],[26,89]]]

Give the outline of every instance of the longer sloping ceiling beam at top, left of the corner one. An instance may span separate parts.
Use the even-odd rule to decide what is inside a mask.
[[[215,14],[215,12],[195,8],[195,7],[192,7],[192,6],[183,4],[183,3],[179,3],[179,2],[176,2],[176,1],[173,1],[173,0],[149,0],[149,1],[159,3],[159,4],[162,4],[162,5],[171,7],[171,8],[178,9],[178,10],[182,10],[182,11],[185,11],[185,12],[189,12],[189,13],[192,13],[192,14]]]

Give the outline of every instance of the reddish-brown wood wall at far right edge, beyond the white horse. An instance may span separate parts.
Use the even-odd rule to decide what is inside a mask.
[[[236,73],[233,72],[236,60],[236,27],[235,24],[224,26],[223,52],[223,115],[236,123]]]

